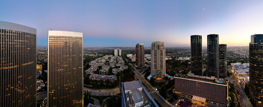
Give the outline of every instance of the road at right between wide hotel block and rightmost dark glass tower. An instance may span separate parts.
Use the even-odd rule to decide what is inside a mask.
[[[239,90],[239,92],[240,92],[240,93],[237,93],[239,95],[240,104],[244,107],[252,107],[252,104],[250,103],[249,99],[246,96],[246,93],[243,91],[242,87],[240,86],[237,77],[233,73],[233,70],[231,69],[230,66],[227,66],[227,67],[229,69],[229,73],[232,73],[231,82],[234,84],[235,90]],[[241,87],[241,88],[239,88],[239,87]],[[243,97],[244,97],[244,99],[243,99]]]

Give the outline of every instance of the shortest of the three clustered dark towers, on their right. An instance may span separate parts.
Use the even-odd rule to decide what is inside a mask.
[[[226,78],[227,76],[227,52],[226,44],[219,45],[219,78]]]

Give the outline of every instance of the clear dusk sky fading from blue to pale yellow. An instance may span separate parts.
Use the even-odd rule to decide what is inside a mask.
[[[37,29],[37,46],[48,30],[83,32],[84,47],[190,47],[191,35],[218,34],[219,44],[248,46],[263,34],[263,1],[247,0],[3,0],[0,20]]]

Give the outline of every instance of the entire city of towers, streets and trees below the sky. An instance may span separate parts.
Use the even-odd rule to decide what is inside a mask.
[[[4,21],[0,34],[1,107],[263,107],[262,34],[237,47],[189,35],[189,48],[83,47],[83,33],[53,30],[37,47],[36,29]]]

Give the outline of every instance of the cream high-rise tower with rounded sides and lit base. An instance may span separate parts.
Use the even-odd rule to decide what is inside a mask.
[[[164,42],[151,43],[151,76],[162,78],[166,75]]]

